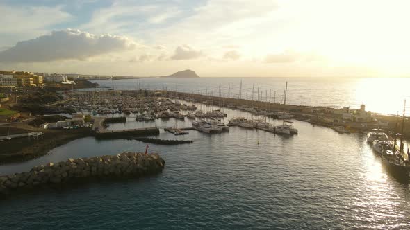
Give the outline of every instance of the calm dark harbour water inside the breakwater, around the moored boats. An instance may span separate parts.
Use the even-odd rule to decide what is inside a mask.
[[[128,120],[110,129],[191,122]],[[214,135],[161,132],[161,139],[194,141],[149,144],[149,152],[159,152],[166,161],[162,174],[0,200],[1,229],[410,228],[410,186],[386,171],[366,136],[300,121],[294,125],[300,134],[292,137],[240,127]],[[145,145],[88,137],[33,161],[0,166],[0,174],[68,157],[143,151]]]

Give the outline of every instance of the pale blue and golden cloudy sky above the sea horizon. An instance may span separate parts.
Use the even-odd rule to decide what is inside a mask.
[[[410,1],[0,0],[0,69],[410,76]]]

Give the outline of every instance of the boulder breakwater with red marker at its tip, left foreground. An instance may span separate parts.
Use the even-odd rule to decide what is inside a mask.
[[[0,194],[92,177],[140,177],[161,172],[164,166],[165,161],[158,154],[136,152],[68,159],[60,163],[47,163],[46,166],[35,166],[30,172],[0,176]]]

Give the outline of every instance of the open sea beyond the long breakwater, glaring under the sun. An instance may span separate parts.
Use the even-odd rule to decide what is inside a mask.
[[[140,78],[115,80],[115,89],[167,89],[231,98],[283,102],[286,81],[286,103],[325,107],[359,108],[382,113],[402,113],[409,99],[410,78]],[[110,80],[97,80],[112,87]],[[240,87],[242,82],[242,90]],[[253,88],[253,97],[252,97]],[[240,95],[241,94],[241,95]]]

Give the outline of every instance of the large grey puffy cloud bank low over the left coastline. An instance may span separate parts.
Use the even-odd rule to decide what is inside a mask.
[[[53,31],[35,39],[17,42],[12,48],[0,52],[0,62],[50,62],[54,60],[85,60],[136,48],[127,37],[93,35],[80,30]]]

